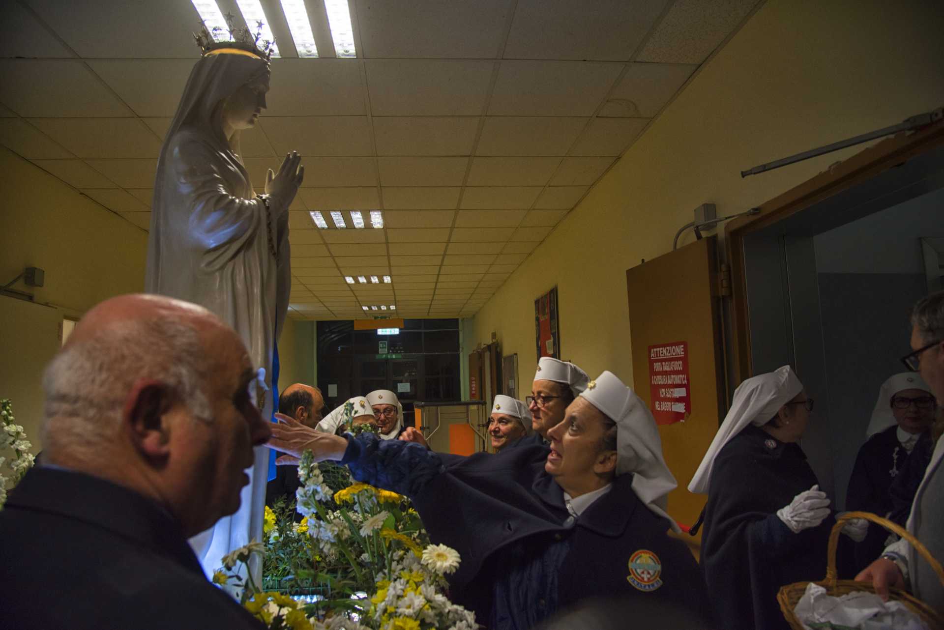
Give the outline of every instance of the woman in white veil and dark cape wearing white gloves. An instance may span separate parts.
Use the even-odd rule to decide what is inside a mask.
[[[749,378],[688,485],[708,494],[701,566],[721,627],[787,628],[778,589],[826,573],[830,500],[798,444],[812,411],[789,366]]]

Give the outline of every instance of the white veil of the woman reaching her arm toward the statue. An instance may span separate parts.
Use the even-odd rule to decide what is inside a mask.
[[[666,513],[666,495],[678,484],[662,456],[662,439],[649,407],[612,372],[587,383],[580,395],[616,423],[616,474],[632,473],[632,491],[639,500],[680,532]]]

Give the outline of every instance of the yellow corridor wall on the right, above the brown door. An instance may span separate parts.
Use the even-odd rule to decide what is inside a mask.
[[[497,332],[527,378],[534,298],[556,285],[562,357],[632,384],[626,270],[668,252],[700,204],[758,206],[864,146],[740,171],[944,105],[941,24],[939,2],[768,0],[481,308],[470,345]]]

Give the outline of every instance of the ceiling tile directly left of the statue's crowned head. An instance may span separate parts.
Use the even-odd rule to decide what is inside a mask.
[[[194,59],[101,59],[89,65],[139,116],[173,116]]]

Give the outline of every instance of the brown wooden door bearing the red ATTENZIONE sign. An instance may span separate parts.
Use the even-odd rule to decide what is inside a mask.
[[[659,434],[666,464],[679,483],[668,495],[668,513],[685,526],[698,519],[706,500],[686,487],[727,407],[717,279],[714,236],[626,272],[633,390],[660,422],[669,422],[673,410],[683,418],[661,423]],[[650,347],[657,356],[650,356]],[[664,366],[672,368],[667,382]],[[659,400],[653,400],[653,388]]]

